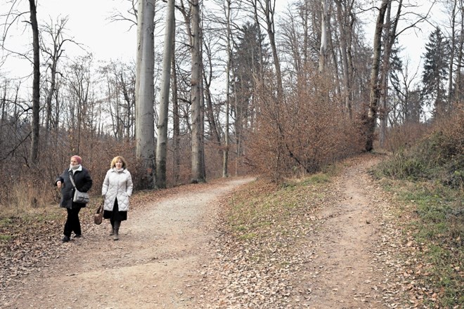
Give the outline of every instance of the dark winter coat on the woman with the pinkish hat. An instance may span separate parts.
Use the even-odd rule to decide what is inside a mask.
[[[67,209],[75,209],[79,207],[85,207],[86,204],[80,204],[72,202],[72,197],[74,197],[74,187],[72,186],[70,180],[70,173],[72,175],[71,169],[65,169],[63,173],[58,176],[55,180],[55,185],[58,181],[61,181],[61,202],[60,207]],[[77,190],[80,192],[88,192],[92,187],[92,178],[87,169],[84,169],[82,166],[79,166],[73,176],[74,183],[76,184]]]

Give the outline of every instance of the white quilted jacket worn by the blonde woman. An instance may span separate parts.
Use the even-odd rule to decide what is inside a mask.
[[[124,169],[116,171],[110,169],[106,172],[101,195],[105,196],[105,204],[103,209],[112,211],[117,198],[117,206],[119,211],[129,210],[129,197],[132,195],[132,178],[131,173]]]

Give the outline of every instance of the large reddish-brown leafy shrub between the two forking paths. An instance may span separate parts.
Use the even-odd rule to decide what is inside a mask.
[[[273,180],[315,173],[362,149],[359,126],[348,119],[342,100],[330,91],[333,81],[307,70],[311,79],[297,84],[282,102],[271,88],[259,92],[247,158]]]

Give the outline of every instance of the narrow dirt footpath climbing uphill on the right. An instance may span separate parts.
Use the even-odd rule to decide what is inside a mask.
[[[376,199],[366,171],[375,161],[358,162],[330,188],[335,201],[321,212],[323,225],[314,249],[311,308],[384,308],[385,281],[375,252],[385,204]]]

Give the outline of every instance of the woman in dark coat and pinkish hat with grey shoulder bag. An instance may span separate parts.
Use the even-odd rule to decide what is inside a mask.
[[[61,202],[60,207],[67,210],[67,219],[63,234],[63,242],[69,242],[71,233],[75,233],[75,237],[81,237],[81,223],[79,222],[79,211],[86,204],[72,202],[74,197],[75,188],[71,183],[70,177],[73,178],[77,190],[81,192],[88,192],[92,187],[92,178],[87,169],[81,165],[82,158],[79,156],[72,156],[70,160],[70,167],[65,169],[63,173],[56,178],[55,185],[61,189]]]

